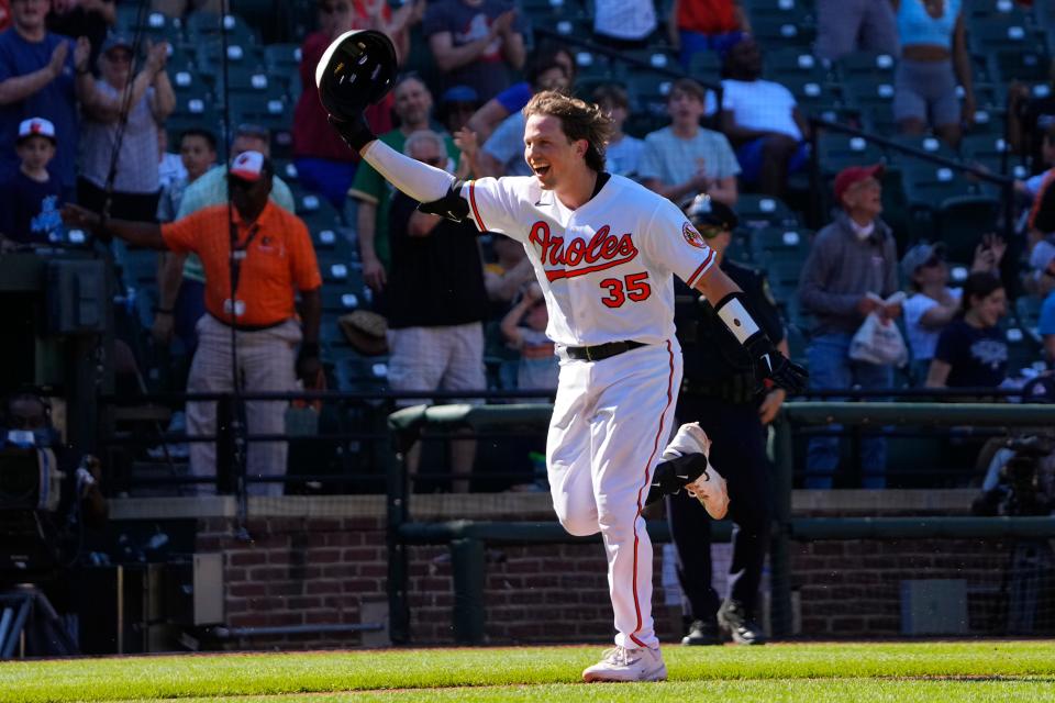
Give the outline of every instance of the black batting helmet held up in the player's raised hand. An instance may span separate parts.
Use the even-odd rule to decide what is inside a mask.
[[[357,118],[391,90],[396,68],[396,48],[382,32],[345,32],[330,44],[315,67],[319,100],[340,120]]]

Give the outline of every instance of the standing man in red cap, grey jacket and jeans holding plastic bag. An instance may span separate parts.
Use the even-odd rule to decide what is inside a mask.
[[[842,211],[817,233],[799,279],[799,299],[814,316],[809,348],[810,387],[814,389],[890,388],[893,369],[849,358],[849,342],[869,313],[895,319],[900,304],[881,302],[898,290],[898,255],[882,212],[882,166],[851,166],[835,177]],[[807,454],[806,487],[832,488],[839,465],[839,437],[817,437]],[[886,443],[862,442],[865,488],[886,484]]]

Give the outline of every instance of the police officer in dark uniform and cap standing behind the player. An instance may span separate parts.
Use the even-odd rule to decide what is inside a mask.
[[[788,354],[784,325],[757,271],[724,257],[737,225],[725,204],[699,196],[687,210],[708,245],[720,257],[722,270],[744,290],[751,314],[777,348]],[[687,289],[678,289],[679,301]],[[722,324],[714,309],[696,293],[689,304],[676,305],[678,339],[685,349],[685,381],[678,401],[679,422],[699,421],[714,438],[710,461],[725,477],[730,516],[734,523],[729,593],[719,604],[711,585],[710,520],[703,506],[681,491],[667,498],[670,534],[677,547],[678,581],[688,601],[688,633],[684,645],[717,645],[724,629],[733,641],[762,644],[755,621],[758,587],[769,542],[769,461],[765,425],[773,422],[785,392],[774,389],[759,397],[752,360]]]

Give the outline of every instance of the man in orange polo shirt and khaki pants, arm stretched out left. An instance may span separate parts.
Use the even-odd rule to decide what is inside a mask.
[[[201,258],[208,314],[198,322],[198,348],[187,380],[190,393],[232,390],[232,327],[238,378],[245,392],[291,391],[297,377],[314,379],[321,370],[322,277],[304,223],[268,200],[273,172],[270,161],[259,152],[244,152],[231,165],[230,191],[237,231],[233,256],[229,220],[232,211],[226,204],[204,208],[163,225],[124,220],[101,222],[98,214],[84,208],[63,209],[63,220],[69,225],[104,230],[135,246],[195,253]],[[298,291],[301,324],[297,323],[295,308]],[[285,401],[246,402],[249,434],[284,433],[287,405]],[[215,403],[187,403],[187,431],[191,436],[214,435]],[[286,453],[285,442],[248,444],[251,494],[281,495],[280,482],[254,486],[252,481],[284,476]],[[191,444],[192,476],[215,476],[215,460],[214,443]],[[199,492],[212,493],[213,488],[201,484]]]

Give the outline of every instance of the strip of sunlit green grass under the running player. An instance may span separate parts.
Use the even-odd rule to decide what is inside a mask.
[[[664,683],[585,684],[600,647],[114,657],[0,663],[0,702],[1055,701],[1055,641],[667,646]]]

